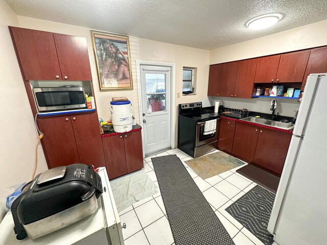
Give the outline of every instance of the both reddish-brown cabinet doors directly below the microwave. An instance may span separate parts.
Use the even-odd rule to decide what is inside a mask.
[[[79,114],[37,119],[49,168],[84,163],[105,166],[98,114]]]

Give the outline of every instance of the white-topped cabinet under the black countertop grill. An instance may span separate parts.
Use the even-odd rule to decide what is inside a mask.
[[[100,167],[98,169],[98,174],[101,178],[103,193],[98,199],[96,199],[98,208],[93,214],[48,235],[44,235],[33,240],[27,237],[24,240],[17,241],[13,231],[13,217],[11,211],[9,211],[4,217],[3,221],[0,223],[0,244],[13,245],[19,243],[21,245],[123,245],[124,238],[122,233],[122,226],[113,199],[106,168]],[[124,227],[126,227],[125,224]]]

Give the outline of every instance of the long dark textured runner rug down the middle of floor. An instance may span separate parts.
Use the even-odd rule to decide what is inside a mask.
[[[179,158],[151,159],[175,244],[234,244]]]

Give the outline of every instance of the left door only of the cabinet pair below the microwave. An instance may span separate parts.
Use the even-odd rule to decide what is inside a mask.
[[[49,168],[80,163],[70,116],[37,119]]]

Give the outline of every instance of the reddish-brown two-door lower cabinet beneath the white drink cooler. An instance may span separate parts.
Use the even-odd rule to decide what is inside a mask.
[[[102,138],[109,180],[143,168],[141,131]]]

